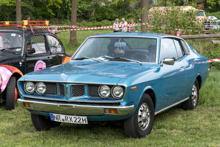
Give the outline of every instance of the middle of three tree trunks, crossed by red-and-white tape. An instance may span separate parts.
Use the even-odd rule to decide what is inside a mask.
[[[77,0],[72,0],[71,25],[77,22]],[[77,44],[76,31],[70,31],[70,44]]]

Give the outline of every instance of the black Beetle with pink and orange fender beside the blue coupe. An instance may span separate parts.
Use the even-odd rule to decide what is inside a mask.
[[[0,103],[14,109],[16,81],[23,74],[68,62],[69,58],[60,39],[44,29],[1,28]]]

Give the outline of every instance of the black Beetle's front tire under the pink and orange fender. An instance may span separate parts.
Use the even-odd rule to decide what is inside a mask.
[[[16,78],[11,77],[6,87],[6,110],[12,110],[15,108],[15,86]]]

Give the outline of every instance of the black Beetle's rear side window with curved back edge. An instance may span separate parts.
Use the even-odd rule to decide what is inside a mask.
[[[50,45],[50,51],[52,53],[61,53],[63,52],[60,42],[53,36],[48,36],[48,41]]]

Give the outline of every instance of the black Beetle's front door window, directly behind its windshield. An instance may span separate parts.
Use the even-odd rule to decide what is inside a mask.
[[[45,37],[43,35],[32,36],[27,41],[26,51],[28,55],[46,53]]]

